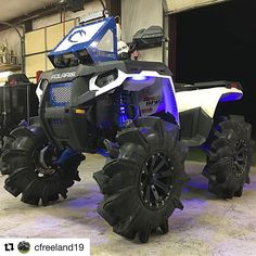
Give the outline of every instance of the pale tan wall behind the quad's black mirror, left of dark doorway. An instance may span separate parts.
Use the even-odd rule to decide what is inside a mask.
[[[162,0],[121,0],[121,40],[131,42],[132,36],[141,28],[152,25],[163,27]],[[141,61],[163,61],[163,49],[140,51]]]

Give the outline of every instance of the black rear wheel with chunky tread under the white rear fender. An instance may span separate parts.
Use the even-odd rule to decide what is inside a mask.
[[[209,192],[222,199],[242,195],[244,183],[249,183],[251,132],[242,116],[225,117],[214,127],[203,170]]]

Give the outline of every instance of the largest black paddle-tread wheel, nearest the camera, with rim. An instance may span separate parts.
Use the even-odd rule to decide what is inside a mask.
[[[98,213],[113,231],[148,242],[152,231],[168,231],[168,217],[182,209],[181,189],[187,150],[178,142],[179,128],[157,117],[143,117],[125,128],[101,171],[93,175],[104,200]],[[108,143],[110,145],[111,143]]]

